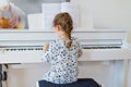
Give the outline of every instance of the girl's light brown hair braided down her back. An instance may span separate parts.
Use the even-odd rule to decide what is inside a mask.
[[[56,25],[60,25],[62,30],[66,33],[66,36],[70,39],[66,46],[67,48],[70,48],[72,45],[71,32],[73,29],[73,21],[71,15],[67,12],[57,14],[53,20],[53,26]]]

